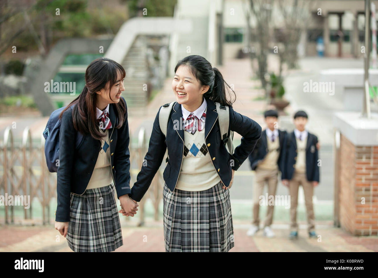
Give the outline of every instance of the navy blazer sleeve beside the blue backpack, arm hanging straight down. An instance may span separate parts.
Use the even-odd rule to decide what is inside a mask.
[[[70,221],[70,193],[72,165],[74,161],[76,130],[72,122],[72,109],[66,110],[60,119],[59,166],[57,169],[57,208],[55,221]]]

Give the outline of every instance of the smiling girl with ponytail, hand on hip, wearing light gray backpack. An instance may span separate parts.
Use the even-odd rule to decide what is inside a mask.
[[[232,109],[234,100],[226,95],[230,89],[220,71],[204,57],[187,56],[175,67],[172,90],[176,101],[161,106],[156,115],[144,157],[147,163],[142,166],[130,197],[141,200],[167,149],[163,173],[167,252],[228,252],[234,246],[227,189],[234,171],[254,149],[261,127]],[[220,125],[224,122],[219,119],[223,111],[227,114],[222,114],[222,121],[229,120],[227,134],[231,130],[243,136],[232,154],[221,138]],[[177,128],[177,122],[183,123],[183,128]],[[124,215],[132,213],[130,205],[123,207]]]

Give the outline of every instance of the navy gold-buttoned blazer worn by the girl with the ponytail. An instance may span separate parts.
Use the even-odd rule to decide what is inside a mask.
[[[243,136],[240,145],[234,149],[234,153],[231,156],[221,140],[215,103],[208,98],[206,98],[206,101],[206,148],[222,183],[228,186],[231,182],[232,169],[236,171],[253,151],[257,140],[261,136],[261,127],[254,120],[235,112],[232,107],[229,107],[229,129]],[[160,168],[166,149],[168,149],[168,158],[163,178],[170,191],[174,191],[176,188],[183,160],[184,132],[186,131],[182,128],[176,130],[174,123],[175,121],[176,123],[180,123],[182,116],[181,104],[176,103],[170,112],[167,137],[165,137],[159,125],[159,112],[157,113],[153,123],[149,148],[144,157],[147,162],[146,166],[142,166],[141,171],[136,177],[136,182],[131,189],[130,197],[133,200],[139,202],[146,193],[153,177]]]

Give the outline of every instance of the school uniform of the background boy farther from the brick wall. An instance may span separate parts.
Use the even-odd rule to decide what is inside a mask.
[[[276,195],[278,171],[281,170],[282,164],[282,145],[285,140],[285,131],[274,129],[265,129],[256,148],[249,155],[251,169],[255,171],[256,183],[253,190],[253,225],[259,227],[259,209],[260,199],[263,194],[265,182],[268,185],[268,196]],[[269,227],[273,220],[273,205],[269,205],[266,211],[264,227]]]

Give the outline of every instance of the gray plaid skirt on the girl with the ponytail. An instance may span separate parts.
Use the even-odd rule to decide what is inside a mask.
[[[163,189],[166,252],[228,252],[234,247],[229,190]]]

